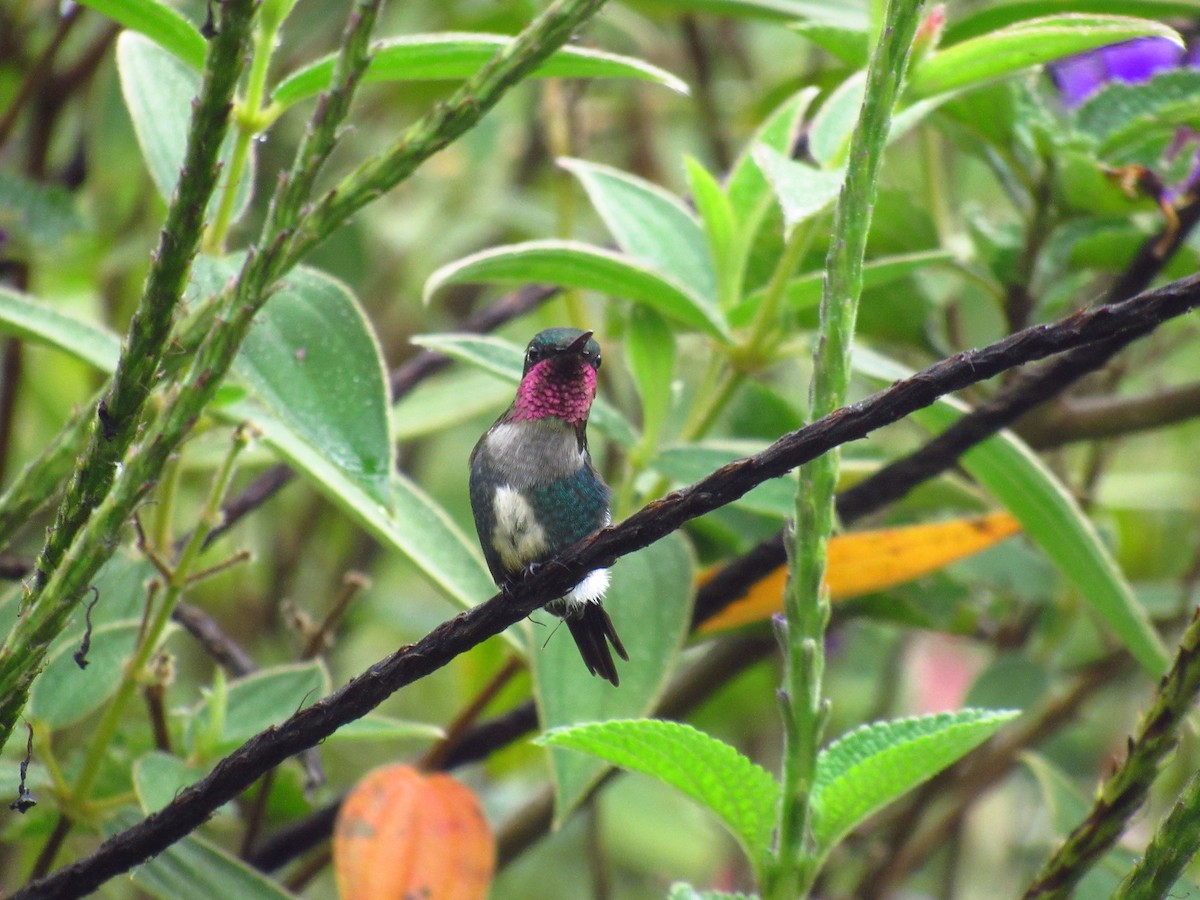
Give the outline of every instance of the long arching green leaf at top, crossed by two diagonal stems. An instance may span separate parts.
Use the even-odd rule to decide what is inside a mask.
[[[512,38],[484,34],[427,34],[391,37],[376,44],[364,83],[458,80],[470,78],[497,53],[512,46]],[[313,97],[329,86],[334,55],[293,72],[272,92],[272,100],[288,107]],[[533,78],[635,78],[688,94],[688,85],[649,62],[587,47],[564,47],[538,70]]]

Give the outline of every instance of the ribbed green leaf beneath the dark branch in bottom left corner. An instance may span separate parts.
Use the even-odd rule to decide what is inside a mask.
[[[134,812],[121,812],[104,824],[104,834],[113,838],[139,821]],[[162,900],[294,900],[262,872],[194,834],[134,868],[130,880]]]

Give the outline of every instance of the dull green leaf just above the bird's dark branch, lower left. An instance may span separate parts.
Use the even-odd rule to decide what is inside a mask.
[[[229,682],[226,689],[223,727],[212,748],[196,748],[194,740],[211,727],[209,698],[202,700],[188,716],[193,750],[224,754],[260,731],[278,725],[304,707],[312,706],[331,690],[325,664],[320,660],[260,668]]]

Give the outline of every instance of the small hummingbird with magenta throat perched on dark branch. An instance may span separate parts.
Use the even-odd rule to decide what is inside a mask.
[[[527,570],[612,521],[608,486],[588,454],[600,344],[590,331],[550,328],[529,342],[516,398],[470,452],[470,508],[492,577],[508,589]],[[620,683],[629,660],[602,600],[608,570],[588,572],[546,604],[592,674]]]

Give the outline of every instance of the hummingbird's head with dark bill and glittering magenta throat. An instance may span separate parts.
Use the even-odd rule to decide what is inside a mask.
[[[512,421],[557,416],[581,426],[596,395],[600,344],[590,331],[548,328],[526,349],[524,372],[512,403]]]

